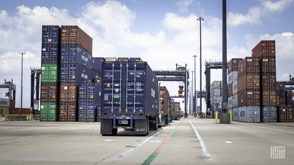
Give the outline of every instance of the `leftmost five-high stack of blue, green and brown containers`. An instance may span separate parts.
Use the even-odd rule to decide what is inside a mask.
[[[59,26],[42,26],[40,121],[59,119]]]

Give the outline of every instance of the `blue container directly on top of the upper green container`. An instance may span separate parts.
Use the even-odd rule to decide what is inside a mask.
[[[59,63],[60,45],[42,45],[41,63]]]

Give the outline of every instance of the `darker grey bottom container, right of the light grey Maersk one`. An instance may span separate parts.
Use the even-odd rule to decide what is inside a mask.
[[[262,107],[261,122],[277,122],[277,107]]]

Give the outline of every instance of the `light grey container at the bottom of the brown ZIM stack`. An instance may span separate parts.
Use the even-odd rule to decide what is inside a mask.
[[[260,122],[260,107],[238,107],[238,120],[240,122]]]

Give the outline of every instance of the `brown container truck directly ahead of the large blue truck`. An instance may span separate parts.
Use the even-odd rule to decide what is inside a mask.
[[[161,125],[165,126],[168,124],[168,116],[171,115],[168,113],[169,92],[166,87],[160,87],[159,96],[161,100]]]

